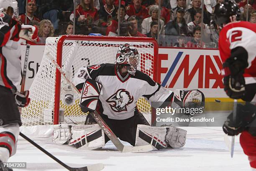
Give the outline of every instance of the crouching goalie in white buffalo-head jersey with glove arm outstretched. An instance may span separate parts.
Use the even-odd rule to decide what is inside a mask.
[[[124,44],[118,48],[115,64],[80,68],[75,74],[74,84],[81,92],[81,110],[87,112],[95,108],[113,133],[133,146],[151,144],[155,150],[181,148],[187,131],[166,125],[151,127],[136,102],[144,97],[148,102],[160,104],[154,108],[165,107],[166,102],[181,108],[204,107],[204,94],[197,89],[172,92],[161,87],[137,70],[139,59],[137,49]],[[104,146],[108,140],[91,115],[87,115],[85,125],[64,124],[61,128],[54,125],[54,143],[57,144],[95,149]]]

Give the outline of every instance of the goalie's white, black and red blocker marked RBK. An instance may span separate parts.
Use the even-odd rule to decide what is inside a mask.
[[[92,79],[86,79],[81,92],[79,106],[82,112],[95,111],[99,100],[102,84]]]

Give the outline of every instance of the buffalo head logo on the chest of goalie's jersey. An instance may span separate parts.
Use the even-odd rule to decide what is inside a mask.
[[[115,112],[127,111],[127,105],[133,102],[133,96],[125,89],[118,89],[106,102],[109,103],[112,110]]]

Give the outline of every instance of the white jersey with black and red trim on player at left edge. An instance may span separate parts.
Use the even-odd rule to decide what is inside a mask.
[[[0,85],[16,89],[21,81],[20,24],[0,13]]]

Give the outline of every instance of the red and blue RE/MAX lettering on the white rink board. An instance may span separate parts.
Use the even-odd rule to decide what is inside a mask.
[[[220,72],[222,69],[222,62],[218,55],[212,55],[212,57],[210,55],[200,55],[198,58],[195,58],[195,56],[183,53],[184,52],[181,51],[178,52],[170,68],[161,66],[158,68],[157,82],[161,82],[161,74],[166,73],[163,81],[161,82],[163,87],[173,88],[177,80],[182,79],[183,88],[187,88],[191,84],[192,79],[195,76],[198,76],[198,88],[224,88],[222,81],[223,76]],[[160,65],[162,60],[168,60],[168,54],[159,54]],[[195,63],[193,62],[193,66],[191,66],[192,60],[197,60]],[[213,60],[216,62],[218,68],[216,68]],[[171,82],[169,82],[170,79]],[[211,87],[210,83],[212,84]]]

